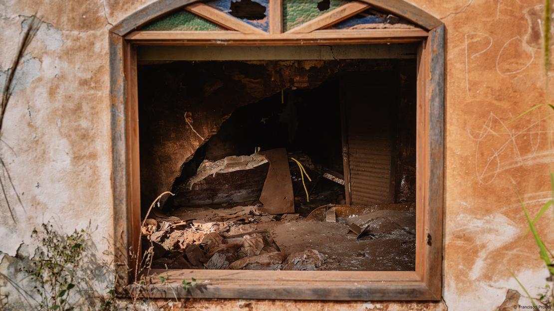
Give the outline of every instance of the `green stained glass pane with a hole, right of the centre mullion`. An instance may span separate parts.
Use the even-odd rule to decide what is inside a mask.
[[[286,32],[346,3],[347,0],[283,0],[283,30]]]

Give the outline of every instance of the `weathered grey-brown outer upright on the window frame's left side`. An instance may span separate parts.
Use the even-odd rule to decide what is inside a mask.
[[[127,264],[129,257],[129,213],[127,210],[127,157],[125,140],[126,81],[124,68],[125,42],[114,33],[109,34],[110,51],[110,111],[112,174],[111,184],[114,204],[114,261],[118,292],[129,284]],[[122,265],[119,265],[121,263]]]

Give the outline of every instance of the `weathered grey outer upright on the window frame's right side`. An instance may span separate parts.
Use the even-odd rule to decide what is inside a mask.
[[[443,254],[443,188],[444,188],[444,24],[431,30],[427,40],[429,57],[428,84],[425,96],[429,106],[429,168],[427,226],[425,257],[427,257],[424,282],[441,299]]]

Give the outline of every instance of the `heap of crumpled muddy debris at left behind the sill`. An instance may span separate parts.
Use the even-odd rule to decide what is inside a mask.
[[[143,245],[152,247],[152,268],[322,270],[327,256],[317,250],[282,252],[268,229],[258,225],[295,220],[298,214],[274,216],[258,206],[197,212],[201,220],[177,217],[146,219]]]

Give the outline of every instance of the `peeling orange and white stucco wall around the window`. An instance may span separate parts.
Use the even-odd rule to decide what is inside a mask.
[[[7,189],[17,224],[0,200],[0,256],[31,250],[32,230],[46,221],[66,231],[91,221],[99,253],[106,249],[113,234],[107,32],[150,2],[0,0],[0,86],[25,17],[44,17],[3,125],[0,156],[24,208]],[[492,310],[507,288],[519,289],[509,270],[532,293],[544,285],[534,242],[521,239],[526,224],[515,192],[534,214],[550,198],[552,112],[510,122],[545,102],[542,1],[408,2],[447,27],[444,303],[201,300],[189,308]],[[539,228],[552,221],[549,212]]]

